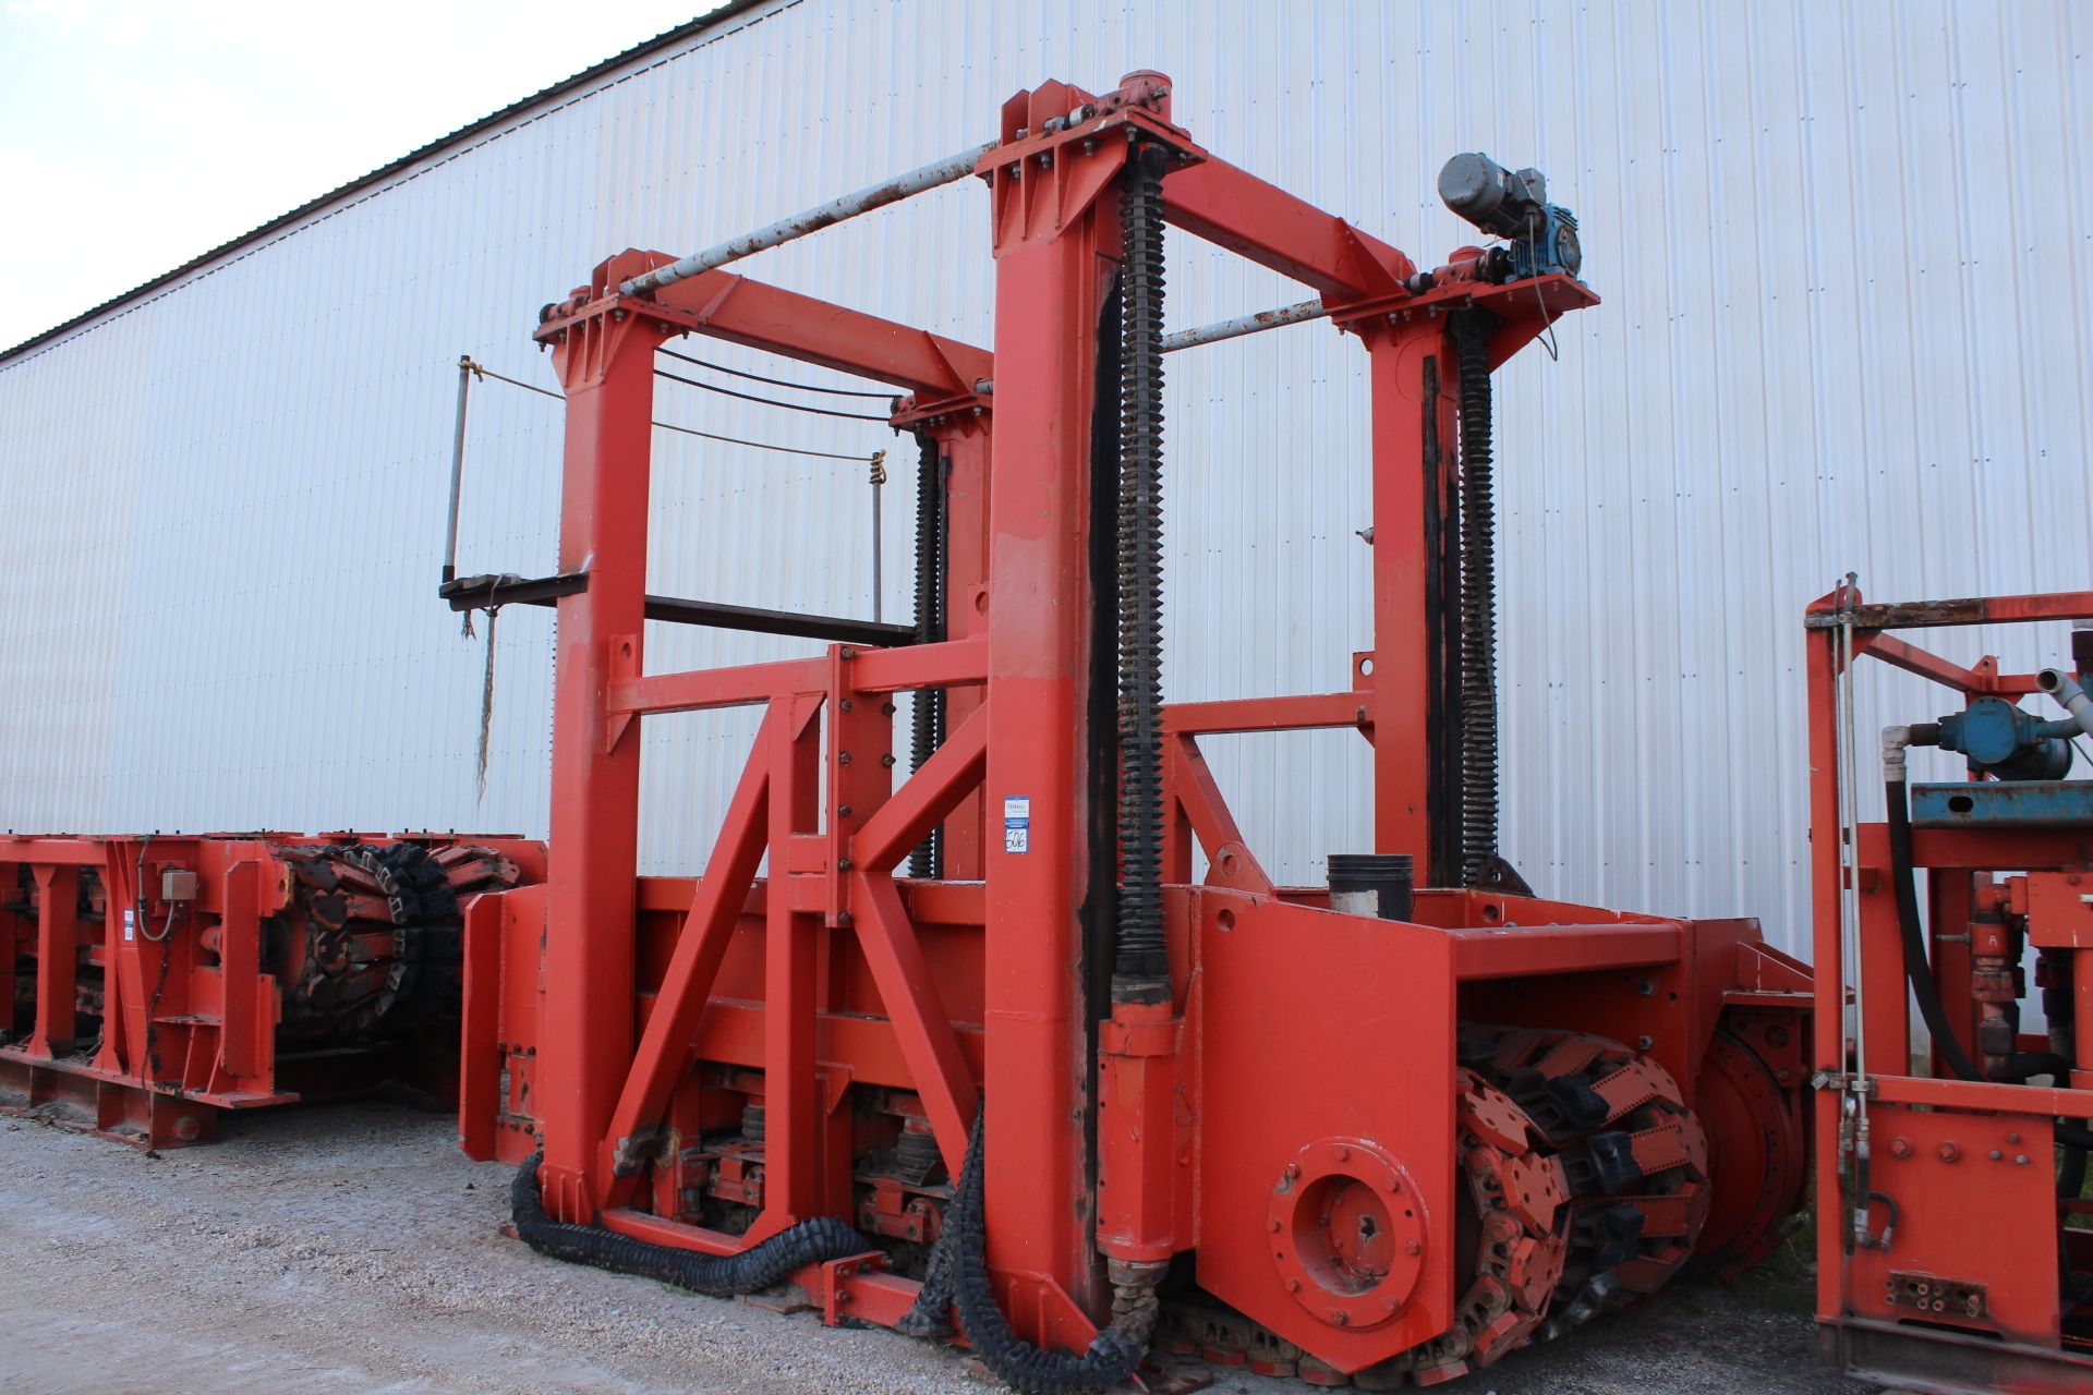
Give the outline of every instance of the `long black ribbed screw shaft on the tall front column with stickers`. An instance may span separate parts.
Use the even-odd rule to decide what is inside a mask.
[[[1120,186],[1120,914],[1113,998],[1170,991],[1164,943],[1164,169],[1143,146]]]

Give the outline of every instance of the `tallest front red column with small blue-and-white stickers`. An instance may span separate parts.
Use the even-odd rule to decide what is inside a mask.
[[[1011,98],[1003,136],[1019,153],[992,176],[984,1205],[988,1263],[1009,1284],[1013,1322],[1059,1347],[1090,1336],[1059,1295],[1093,1311],[1097,1299],[1080,924],[1090,883],[1090,418],[1124,146],[1034,161],[1019,132],[1082,100],[1061,84]]]

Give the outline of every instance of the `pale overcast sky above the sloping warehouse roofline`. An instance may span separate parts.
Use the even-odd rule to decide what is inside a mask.
[[[710,8],[0,0],[0,347]]]

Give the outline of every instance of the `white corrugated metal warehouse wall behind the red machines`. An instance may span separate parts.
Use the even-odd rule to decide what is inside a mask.
[[[486,621],[435,598],[458,356],[555,387],[538,305],[605,255],[984,140],[1044,77],[1153,67],[1203,144],[1423,266],[1473,236],[1434,192],[1457,151],[1578,211],[1605,303],[1499,385],[1505,847],[1540,891],[1758,914],[1802,950],[1802,607],[1848,569],[1884,600],[2085,586],[2089,50],[2070,0],[735,6],[0,356],[0,828],[542,834],[550,611],[500,613],[481,791]],[[973,184],[737,270],[990,337]],[[1170,234],[1180,326],[1300,295]],[[1308,324],[1168,366],[1168,694],[1344,686],[1365,353]],[[850,458],[659,433],[649,590],[875,611],[862,460],[904,441],[676,383],[657,408]],[[553,571],[559,439],[557,402],[475,389],[460,571]],[[812,648],[647,642],[653,667]],[[1871,682],[1884,715],[1934,701]],[[649,728],[645,870],[703,862],[751,730]],[[1365,847],[1354,742],[1212,742],[1275,872]]]

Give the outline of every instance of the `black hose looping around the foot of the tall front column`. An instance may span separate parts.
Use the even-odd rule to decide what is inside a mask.
[[[950,1332],[946,1311],[957,1309],[967,1330],[967,1343],[982,1364],[1021,1395],[1074,1395],[1105,1391],[1141,1366],[1149,1334],[1160,1311],[1155,1290],[1122,1284],[1113,1290],[1111,1322],[1090,1341],[1082,1355],[1042,1351],[1011,1330],[996,1303],[988,1278],[988,1228],[982,1211],[982,1138],[986,1106],[973,1113],[967,1138],[967,1161],[959,1171],[959,1188],[944,1211],[944,1230],[931,1249],[929,1272],[915,1307],[896,1324],[910,1336]]]

